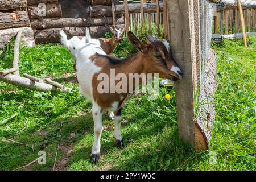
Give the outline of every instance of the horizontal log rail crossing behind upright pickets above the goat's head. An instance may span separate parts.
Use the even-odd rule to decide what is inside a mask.
[[[124,1],[125,2],[125,1]],[[160,12],[163,12],[163,2],[159,2]],[[125,14],[125,5],[115,5],[115,11],[117,14]],[[128,4],[129,13],[140,13],[141,5],[138,4]],[[155,13],[156,3],[144,3],[143,4],[144,13]],[[90,17],[110,17],[112,16],[112,7],[104,5],[90,6]]]

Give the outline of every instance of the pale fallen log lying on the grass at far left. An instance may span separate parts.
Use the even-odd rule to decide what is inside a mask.
[[[46,83],[39,83],[36,81],[32,81],[28,78],[16,76],[13,74],[8,74],[3,77],[0,77],[0,81],[6,82],[8,84],[12,84],[15,86],[21,86],[23,88],[31,89],[31,90],[39,90],[42,92],[56,92],[57,88],[53,85]]]

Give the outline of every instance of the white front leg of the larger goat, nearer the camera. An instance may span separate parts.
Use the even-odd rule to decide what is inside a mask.
[[[101,150],[101,133],[103,130],[102,126],[102,112],[100,107],[93,103],[92,107],[93,121],[94,121],[94,142],[92,147],[92,154],[90,158],[94,164],[98,163],[100,159],[100,150]]]

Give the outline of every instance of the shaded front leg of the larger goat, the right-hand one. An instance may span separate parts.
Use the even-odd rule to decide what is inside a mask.
[[[114,122],[115,122],[115,130],[114,130],[114,138],[115,138],[115,146],[121,148],[123,146],[123,140],[121,135],[121,111],[120,108],[117,113],[114,115]]]

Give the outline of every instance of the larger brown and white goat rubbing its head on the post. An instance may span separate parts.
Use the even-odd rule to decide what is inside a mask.
[[[103,130],[102,114],[106,111],[114,114],[115,122],[114,138],[117,147],[122,147],[122,135],[120,131],[121,125],[121,110],[130,89],[136,89],[136,86],[130,81],[127,82],[129,92],[123,93],[101,93],[98,88],[101,84],[101,76],[106,75],[109,79],[108,89],[112,88],[112,83],[117,86],[118,80],[111,77],[111,72],[114,69],[115,76],[122,74],[129,77],[129,74],[155,74],[158,73],[160,78],[171,80],[180,80],[181,70],[172,59],[170,46],[167,42],[162,42],[159,39],[147,35],[148,44],[142,43],[132,33],[128,33],[128,38],[138,53],[129,59],[121,60],[117,57],[108,56],[101,47],[94,43],[86,43],[77,41],[77,38],[67,40],[64,34],[61,33],[61,43],[69,49],[69,52],[76,59],[77,79],[80,85],[80,92],[89,100],[92,101],[92,115],[94,121],[94,143],[92,154],[90,155],[93,163],[98,163],[100,158],[100,138]],[[114,79],[114,80],[113,80]]]

